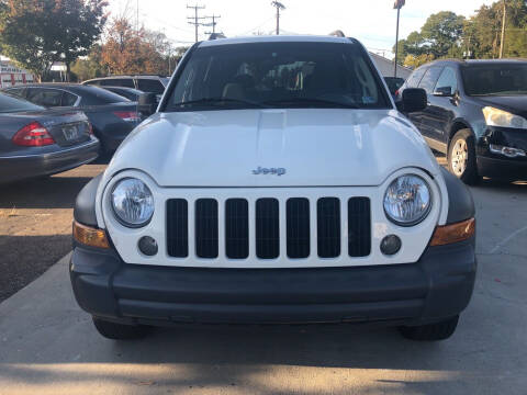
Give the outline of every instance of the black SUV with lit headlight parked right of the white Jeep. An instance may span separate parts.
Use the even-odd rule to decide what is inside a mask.
[[[438,60],[400,89],[423,88],[428,106],[408,114],[466,183],[527,179],[527,61]]]

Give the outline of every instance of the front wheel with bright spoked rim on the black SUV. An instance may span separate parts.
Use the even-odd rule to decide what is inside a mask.
[[[475,142],[470,129],[461,129],[453,135],[448,147],[448,169],[466,184],[479,182]]]

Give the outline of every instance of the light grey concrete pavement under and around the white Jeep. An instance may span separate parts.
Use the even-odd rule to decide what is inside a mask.
[[[392,328],[156,329],[101,338],[76,305],[67,259],[0,304],[0,394],[507,394],[527,388],[527,183],[484,181],[479,274],[455,336]]]

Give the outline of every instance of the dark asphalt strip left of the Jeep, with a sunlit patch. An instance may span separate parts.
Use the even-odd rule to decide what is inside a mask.
[[[105,165],[0,185],[0,302],[71,249],[77,193]]]

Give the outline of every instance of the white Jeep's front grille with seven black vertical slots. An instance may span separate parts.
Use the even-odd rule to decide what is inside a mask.
[[[240,198],[221,203],[215,199],[168,200],[168,255],[175,258],[247,259],[253,253],[257,259],[266,260],[281,255],[289,259],[334,259],[341,255],[359,258],[371,253],[369,198],[346,201],[332,196],[290,198],[282,202],[265,198],[253,202]],[[190,213],[189,204],[194,207]],[[192,245],[189,242],[192,226],[189,225],[193,225],[193,251],[189,251]],[[313,234],[315,229],[316,235]],[[347,240],[343,238],[343,232],[347,232]]]

